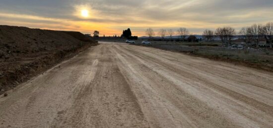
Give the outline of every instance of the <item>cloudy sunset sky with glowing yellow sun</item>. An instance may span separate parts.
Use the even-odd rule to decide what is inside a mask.
[[[145,36],[147,28],[190,34],[273,22],[273,0],[0,0],[0,25]]]

